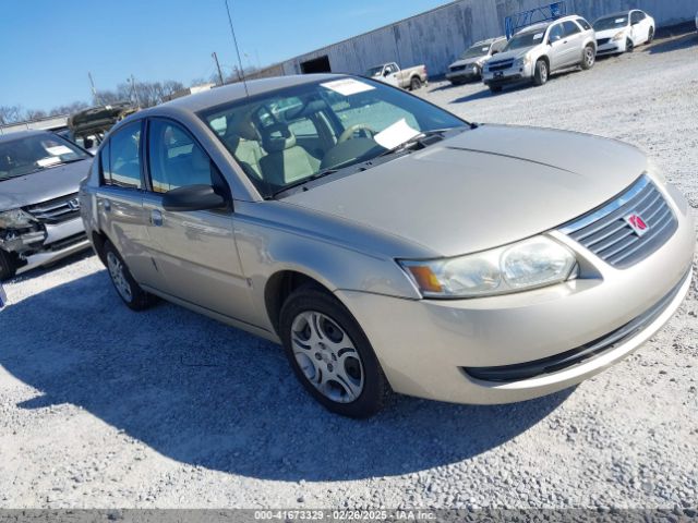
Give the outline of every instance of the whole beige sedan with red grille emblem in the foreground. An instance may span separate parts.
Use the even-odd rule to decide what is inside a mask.
[[[689,288],[689,206],[634,147],[471,124],[352,76],[248,89],[119,123],[82,216],[129,307],[159,296],[282,343],[333,412],[565,389]]]

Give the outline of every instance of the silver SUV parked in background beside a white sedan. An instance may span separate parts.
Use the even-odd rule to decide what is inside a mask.
[[[591,69],[595,59],[597,39],[589,22],[565,16],[514,35],[504,51],[488,61],[482,81],[493,93],[521,82],[543,85],[552,73],[576,66]]]

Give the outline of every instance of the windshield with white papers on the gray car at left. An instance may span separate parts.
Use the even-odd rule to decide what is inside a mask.
[[[41,133],[0,142],[0,181],[92,158],[57,134]]]

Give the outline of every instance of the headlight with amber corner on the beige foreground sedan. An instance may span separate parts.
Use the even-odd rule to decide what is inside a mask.
[[[507,294],[576,277],[569,248],[546,236],[455,258],[398,260],[424,297]]]

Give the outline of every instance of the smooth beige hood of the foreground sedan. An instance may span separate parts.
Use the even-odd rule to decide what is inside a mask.
[[[481,125],[282,202],[455,256],[561,226],[621,193],[647,168],[646,156],[621,142]]]

